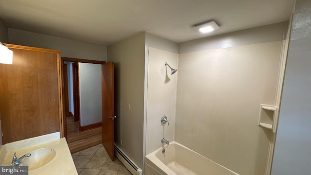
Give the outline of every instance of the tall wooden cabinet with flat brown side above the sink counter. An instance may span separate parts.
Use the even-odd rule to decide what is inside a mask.
[[[61,131],[60,51],[5,45],[13,64],[0,64],[3,144]]]

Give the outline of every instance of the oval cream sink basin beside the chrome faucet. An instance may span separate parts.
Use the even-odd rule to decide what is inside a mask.
[[[41,148],[30,152],[30,157],[25,157],[20,161],[21,166],[28,166],[28,170],[34,170],[52,161],[56,155],[53,148]]]

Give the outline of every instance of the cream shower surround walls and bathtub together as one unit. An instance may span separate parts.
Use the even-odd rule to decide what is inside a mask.
[[[264,175],[273,132],[258,125],[259,106],[275,104],[282,42],[176,55],[149,48],[145,174],[206,175],[208,165],[212,175]],[[203,169],[171,143],[162,155],[162,138],[202,155],[189,159]]]

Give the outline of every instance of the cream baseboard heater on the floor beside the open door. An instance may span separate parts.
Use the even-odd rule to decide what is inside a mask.
[[[142,170],[115,144],[115,155],[132,175],[142,175]]]

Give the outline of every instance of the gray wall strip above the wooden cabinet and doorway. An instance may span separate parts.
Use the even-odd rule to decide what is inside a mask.
[[[8,29],[9,43],[61,51],[63,57],[88,60],[107,60],[107,47],[60,37]]]

